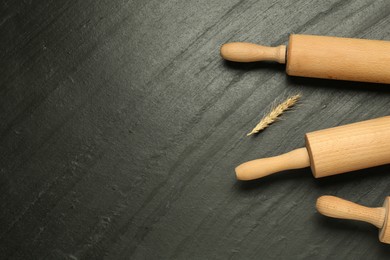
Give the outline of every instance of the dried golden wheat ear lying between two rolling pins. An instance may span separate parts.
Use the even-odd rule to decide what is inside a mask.
[[[274,107],[271,112],[265,117],[263,117],[261,121],[255,126],[255,128],[253,128],[253,130],[247,134],[247,136],[257,134],[261,130],[267,128],[270,124],[275,122],[279,118],[279,116],[284,113],[284,111],[293,107],[300,98],[300,94],[291,96],[287,98],[283,103]]]

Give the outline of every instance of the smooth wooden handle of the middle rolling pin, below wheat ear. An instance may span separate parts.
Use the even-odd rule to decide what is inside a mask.
[[[254,180],[275,172],[290,169],[299,169],[310,166],[310,159],[306,148],[299,148],[291,152],[263,159],[243,163],[236,168],[238,180]]]

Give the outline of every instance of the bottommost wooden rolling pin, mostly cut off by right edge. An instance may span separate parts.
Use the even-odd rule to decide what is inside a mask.
[[[368,208],[334,196],[321,196],[317,199],[317,210],[325,216],[341,219],[365,221],[379,228],[379,240],[390,244],[389,201],[386,197],[380,208]]]

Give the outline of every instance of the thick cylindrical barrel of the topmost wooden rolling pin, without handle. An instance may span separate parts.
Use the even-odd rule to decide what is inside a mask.
[[[291,76],[390,83],[390,41],[292,34]]]

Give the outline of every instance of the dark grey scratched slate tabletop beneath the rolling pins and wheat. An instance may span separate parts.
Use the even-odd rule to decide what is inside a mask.
[[[304,134],[388,115],[386,85],[234,64],[221,44],[289,33],[390,40],[390,2],[0,3],[1,259],[385,259],[377,228],[327,219],[324,194],[380,206],[390,166],[238,182]],[[256,137],[274,100],[301,104]]]

